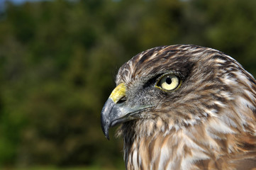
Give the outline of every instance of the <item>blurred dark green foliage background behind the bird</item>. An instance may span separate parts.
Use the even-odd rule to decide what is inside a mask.
[[[256,75],[254,0],[6,3],[0,15],[0,165],[124,167],[100,112],[118,67],[150,47],[196,44]]]

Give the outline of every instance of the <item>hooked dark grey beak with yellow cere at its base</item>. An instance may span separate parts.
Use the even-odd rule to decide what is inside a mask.
[[[136,113],[139,113],[145,108],[150,108],[150,106],[130,108],[127,107],[125,103],[118,103],[118,101],[120,101],[120,99],[125,96],[126,86],[125,84],[121,83],[112,91],[111,95],[102,108],[101,128],[108,140],[108,130],[110,127],[127,122],[128,120],[138,118]]]

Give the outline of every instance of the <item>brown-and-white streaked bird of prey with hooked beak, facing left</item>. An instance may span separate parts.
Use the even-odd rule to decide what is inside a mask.
[[[196,45],[154,47],[123,64],[101,111],[121,124],[126,169],[256,169],[256,81]]]

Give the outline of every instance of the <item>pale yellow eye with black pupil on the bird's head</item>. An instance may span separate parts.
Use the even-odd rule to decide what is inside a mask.
[[[167,74],[158,81],[157,86],[161,89],[172,91],[180,85],[180,79],[174,74]]]

